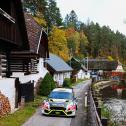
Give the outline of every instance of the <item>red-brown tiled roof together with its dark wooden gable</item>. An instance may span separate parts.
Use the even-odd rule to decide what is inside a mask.
[[[39,54],[43,58],[49,57],[48,36],[45,29],[28,13],[25,13],[25,23],[30,52]]]

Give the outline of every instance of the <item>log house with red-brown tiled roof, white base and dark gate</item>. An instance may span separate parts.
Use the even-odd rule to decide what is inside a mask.
[[[29,50],[11,52],[10,68],[12,77],[19,78],[22,84],[21,95],[25,96],[26,101],[31,101],[34,91],[37,90],[38,81],[48,72],[44,67],[44,60],[49,58],[48,36],[32,15],[25,13],[24,17]],[[27,92],[28,89],[31,91]]]

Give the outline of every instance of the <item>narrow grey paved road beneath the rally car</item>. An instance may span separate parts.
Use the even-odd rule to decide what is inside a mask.
[[[90,83],[91,81],[87,80],[73,87],[75,96],[78,98],[78,110],[75,118],[43,116],[39,108],[22,126],[87,126],[84,94],[88,90]]]

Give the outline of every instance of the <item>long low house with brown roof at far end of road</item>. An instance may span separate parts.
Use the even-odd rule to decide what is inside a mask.
[[[83,64],[86,66],[92,78],[96,80],[102,78],[108,78],[111,71],[117,68],[117,61],[109,61],[106,58],[85,58],[83,59]]]

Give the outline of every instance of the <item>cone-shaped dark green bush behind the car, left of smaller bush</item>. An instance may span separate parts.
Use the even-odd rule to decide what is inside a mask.
[[[48,96],[49,93],[56,87],[56,84],[52,78],[52,76],[47,73],[44,79],[41,81],[39,87],[39,94],[43,96]]]

